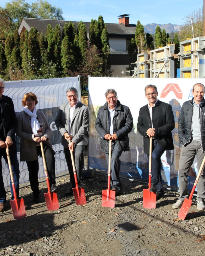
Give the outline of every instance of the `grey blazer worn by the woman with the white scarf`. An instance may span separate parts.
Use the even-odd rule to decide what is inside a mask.
[[[48,138],[47,141],[44,143],[52,148],[52,144],[49,140],[51,128],[46,119],[46,116],[43,114],[43,112],[39,110],[37,110],[36,114],[42,126],[42,134],[43,136]],[[33,134],[31,123],[28,119],[26,112],[21,111],[17,115],[17,120],[18,126],[16,134],[18,137],[20,137],[20,161],[30,162],[37,160],[38,155],[36,151],[36,142],[33,140],[35,135]]]

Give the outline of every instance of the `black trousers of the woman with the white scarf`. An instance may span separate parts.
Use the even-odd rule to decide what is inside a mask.
[[[52,148],[43,143],[44,154],[46,158],[46,165],[49,175],[50,186],[55,184],[55,157]],[[42,157],[41,147],[36,147],[38,156]],[[30,162],[26,162],[28,167],[29,181],[33,195],[39,195],[39,181],[38,181],[38,171],[39,171],[39,162],[38,159]]]

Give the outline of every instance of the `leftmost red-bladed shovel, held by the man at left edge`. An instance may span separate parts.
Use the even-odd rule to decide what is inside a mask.
[[[16,188],[14,185],[14,176],[13,176],[13,172],[12,172],[12,168],[11,168],[11,159],[10,159],[9,151],[7,148],[6,148],[6,154],[7,154],[7,158],[8,158],[8,167],[9,167],[9,171],[10,171],[11,183],[12,183],[12,188],[13,188],[13,192],[14,192],[14,200],[10,201],[11,209],[13,212],[14,219],[18,220],[18,219],[22,219],[22,218],[26,217],[26,210],[25,210],[25,205],[24,205],[24,199],[17,198]]]

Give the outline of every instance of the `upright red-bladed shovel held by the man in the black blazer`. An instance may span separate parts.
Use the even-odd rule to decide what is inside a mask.
[[[152,171],[152,138],[150,138],[150,159],[149,159],[149,182],[148,189],[143,189],[143,207],[147,209],[156,208],[156,193],[150,192]]]

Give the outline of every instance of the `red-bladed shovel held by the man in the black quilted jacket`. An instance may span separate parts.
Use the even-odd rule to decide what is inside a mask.
[[[102,191],[102,207],[115,208],[115,191],[110,190],[111,144],[112,140],[109,141],[108,189]]]

